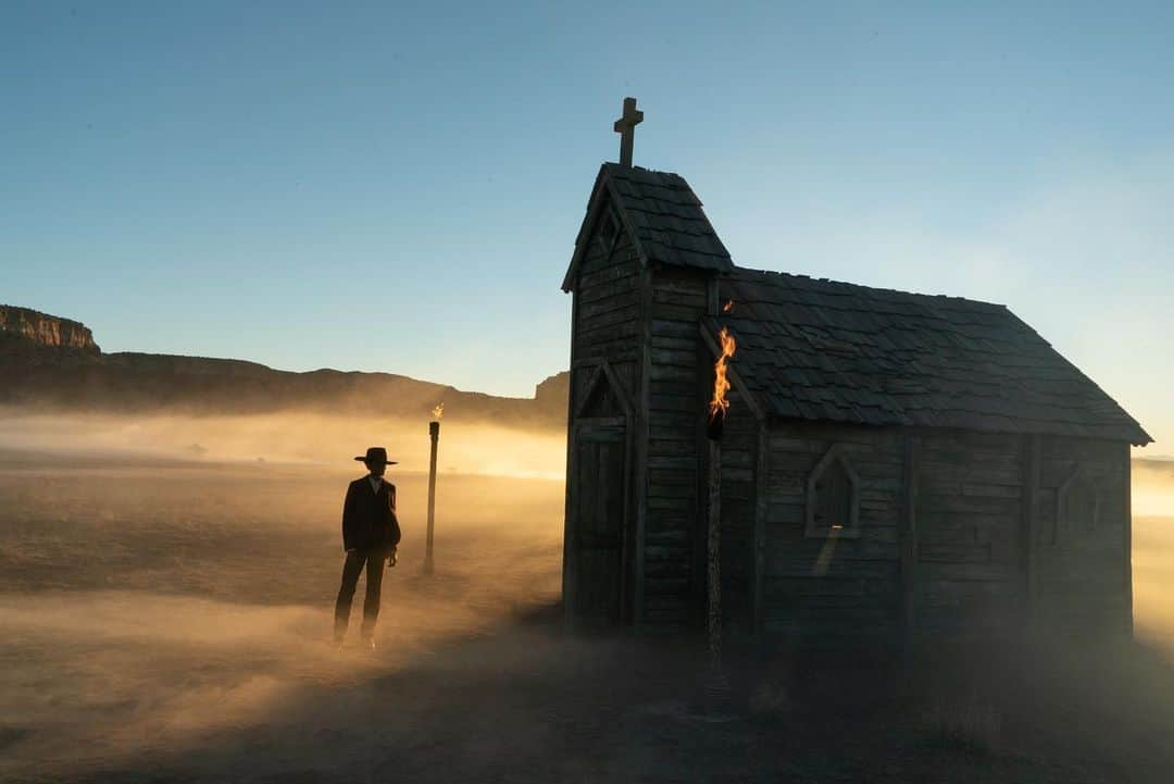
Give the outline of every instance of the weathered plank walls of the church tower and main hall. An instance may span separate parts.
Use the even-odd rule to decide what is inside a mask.
[[[621,231],[609,249],[592,241],[574,292],[572,411],[606,359],[637,412],[630,426],[640,475],[626,502],[641,507],[633,515],[643,534],[634,548],[642,552],[635,615],[646,631],[695,626],[706,589],[700,488],[711,357],[697,323],[710,306],[709,278],[641,270]],[[593,413],[614,413],[605,408]],[[804,533],[807,480],[834,444],[861,479],[858,539]],[[1059,515],[1059,488],[1078,465],[1097,487],[1093,526]],[[763,439],[735,391],[722,471],[723,596],[733,635],[758,626],[768,635],[830,641],[895,633],[903,616],[922,636],[984,634],[1021,617],[1028,592],[1035,617],[1054,626],[1129,626],[1128,450],[1120,444],[826,423],[776,424]],[[906,495],[909,472],[917,492]],[[903,509],[909,499],[912,508]],[[903,548],[900,527],[910,519],[916,534]]]

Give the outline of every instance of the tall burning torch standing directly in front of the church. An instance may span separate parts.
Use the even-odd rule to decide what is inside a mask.
[[[726,307],[729,310],[729,306]],[[717,334],[721,356],[714,363],[714,396],[709,400],[709,421],[706,435],[709,437],[709,520],[707,532],[707,561],[709,579],[709,661],[713,674],[722,687],[722,432],[726,425],[726,411],[730,407],[730,383],[727,378],[729,360],[737,349],[729,327],[723,326]]]

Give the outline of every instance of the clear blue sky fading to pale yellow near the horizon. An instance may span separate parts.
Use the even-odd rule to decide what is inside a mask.
[[[0,2],[0,302],[529,394],[635,95],[736,263],[1005,303],[1174,454],[1174,5],[734,5]]]

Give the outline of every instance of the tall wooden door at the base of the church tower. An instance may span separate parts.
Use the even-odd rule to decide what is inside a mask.
[[[575,428],[572,611],[583,627],[618,626],[622,617],[626,446],[622,424],[585,423]]]

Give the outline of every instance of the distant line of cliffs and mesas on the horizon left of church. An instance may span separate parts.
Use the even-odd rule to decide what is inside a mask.
[[[82,324],[23,307],[0,310],[0,404],[38,410],[167,411],[190,414],[316,410],[562,427],[567,373],[534,398],[500,398],[392,373],[274,370],[238,359],[102,353]]]

